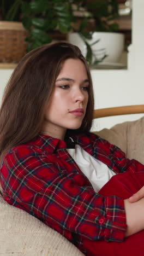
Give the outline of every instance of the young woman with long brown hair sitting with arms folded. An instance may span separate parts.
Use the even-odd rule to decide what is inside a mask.
[[[134,255],[133,240],[143,255],[144,166],[89,132],[93,108],[79,48],[56,43],[23,57],[0,112],[4,199],[86,255]]]

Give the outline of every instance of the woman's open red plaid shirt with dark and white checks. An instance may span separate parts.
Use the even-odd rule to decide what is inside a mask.
[[[93,133],[70,136],[116,173],[143,170],[139,162],[125,158],[119,148]],[[95,193],[66,148],[64,141],[39,135],[11,149],[1,167],[5,201],[39,218],[81,251],[82,237],[123,241],[123,199]]]

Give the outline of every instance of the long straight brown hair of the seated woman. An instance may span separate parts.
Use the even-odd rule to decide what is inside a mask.
[[[7,150],[31,141],[41,131],[44,109],[65,60],[80,59],[87,69],[89,100],[79,131],[89,131],[93,118],[93,88],[87,61],[69,43],[44,45],[26,54],[5,88],[0,110],[1,160]]]

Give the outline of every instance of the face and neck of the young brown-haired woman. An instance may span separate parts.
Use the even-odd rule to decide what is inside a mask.
[[[86,67],[79,59],[68,59],[59,73],[45,112],[43,133],[63,139],[67,129],[78,129],[88,102]]]

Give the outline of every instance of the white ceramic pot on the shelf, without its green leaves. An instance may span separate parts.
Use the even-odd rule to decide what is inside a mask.
[[[79,33],[69,33],[68,40],[70,43],[77,45],[86,57],[87,48]],[[93,54],[100,60],[104,54],[107,55],[102,62],[118,63],[121,60],[124,51],[124,35],[122,33],[112,32],[94,32],[92,39],[87,40],[89,44],[99,40],[98,43],[92,45]]]

